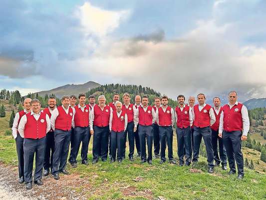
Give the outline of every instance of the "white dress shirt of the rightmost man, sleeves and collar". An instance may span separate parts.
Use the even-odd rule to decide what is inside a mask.
[[[236,101],[234,105],[231,105],[230,103],[228,103],[228,105],[231,109],[234,105],[238,105],[238,101]],[[250,130],[250,119],[249,119],[248,108],[245,105],[242,105],[241,116],[243,121],[243,135],[247,136]],[[223,130],[224,130],[224,111],[221,112],[220,116],[219,133],[222,133]]]

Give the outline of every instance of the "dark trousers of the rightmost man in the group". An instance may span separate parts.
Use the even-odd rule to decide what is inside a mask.
[[[230,169],[236,171],[235,162],[237,162],[238,174],[244,175],[244,159],[243,153],[241,151],[241,136],[242,132],[240,130],[232,132],[227,132],[225,130],[223,131],[223,142],[226,146]]]

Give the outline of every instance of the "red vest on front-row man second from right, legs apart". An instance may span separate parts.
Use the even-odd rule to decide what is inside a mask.
[[[210,118],[210,109],[212,108],[211,105],[206,104],[205,107],[200,111],[199,104],[193,107],[195,120],[194,125],[200,128],[207,127],[211,125],[211,118]]]

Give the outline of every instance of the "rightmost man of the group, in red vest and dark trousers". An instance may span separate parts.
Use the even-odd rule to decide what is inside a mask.
[[[220,117],[219,136],[223,136],[229,161],[229,174],[236,173],[238,165],[238,179],[244,177],[244,159],[241,151],[241,141],[247,139],[250,129],[250,119],[248,109],[245,105],[238,102],[236,91],[229,92],[229,103],[223,106]]]

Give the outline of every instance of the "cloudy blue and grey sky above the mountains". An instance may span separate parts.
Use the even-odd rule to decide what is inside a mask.
[[[265,97],[265,19],[265,0],[1,0],[0,88]]]

